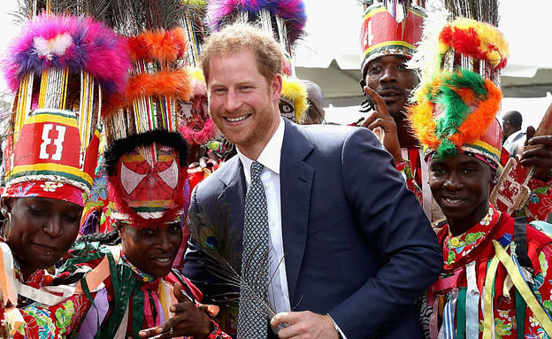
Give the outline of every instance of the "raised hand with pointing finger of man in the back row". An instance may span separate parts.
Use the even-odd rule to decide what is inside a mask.
[[[387,112],[387,106],[383,98],[368,86],[364,86],[364,93],[372,98],[374,104],[374,111],[370,113],[364,119],[362,127],[370,129],[372,132],[378,127],[383,130],[383,135],[377,134],[380,143],[391,153],[395,162],[403,162],[403,154],[401,153],[401,146],[399,144],[399,137],[397,135],[395,120]]]

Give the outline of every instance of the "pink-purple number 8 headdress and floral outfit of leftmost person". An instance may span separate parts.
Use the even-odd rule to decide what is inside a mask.
[[[16,96],[4,147],[3,196],[83,206],[96,167],[102,99],[125,89],[130,60],[119,35],[102,23],[46,10],[27,21],[4,60]],[[0,243],[0,285],[10,336],[75,335],[90,306],[83,274],[97,263],[37,270],[25,281],[8,244]],[[96,293],[101,280],[88,287]]]

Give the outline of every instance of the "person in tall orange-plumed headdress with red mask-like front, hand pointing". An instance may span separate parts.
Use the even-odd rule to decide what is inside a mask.
[[[178,132],[179,103],[194,94],[184,68],[185,8],[178,0],[133,4],[112,8],[122,11],[112,15],[127,35],[133,66],[124,95],[102,112],[110,218],[121,246],[110,249],[115,260],[104,282],[107,295],[87,293],[97,312],[88,312],[83,325],[88,330],[80,337],[225,337],[203,312],[211,308],[196,304],[198,291],[172,270],[189,200],[188,145]],[[89,248],[75,250],[93,256]]]

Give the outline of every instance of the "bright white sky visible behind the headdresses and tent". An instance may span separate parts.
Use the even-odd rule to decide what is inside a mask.
[[[436,0],[429,1],[436,3]],[[0,2],[2,54],[4,46],[19,33],[19,26],[13,23],[14,18],[10,14],[15,11],[17,2]],[[335,58],[342,69],[358,69],[362,6],[357,0],[304,0],[304,3],[308,17],[307,35],[296,49],[296,65],[327,67]],[[552,68],[552,43],[545,38],[551,12],[552,2],[548,0],[502,0],[499,28],[510,42],[510,58],[503,73],[532,77],[539,67]],[[4,80],[0,81],[0,89],[5,87]],[[543,99],[511,99],[505,100],[502,107],[510,110],[510,107],[523,106],[531,112],[527,114],[530,116],[527,120],[534,125],[533,121],[538,123],[551,101],[550,96]]]

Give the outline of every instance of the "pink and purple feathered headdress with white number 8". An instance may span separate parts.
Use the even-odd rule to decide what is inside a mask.
[[[83,204],[96,167],[102,98],[126,87],[126,43],[94,19],[43,13],[8,47],[16,94],[5,167],[9,196]]]

